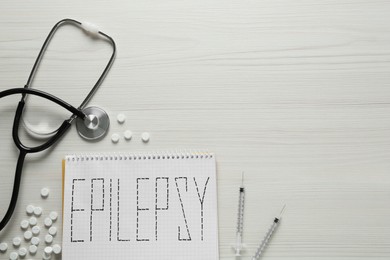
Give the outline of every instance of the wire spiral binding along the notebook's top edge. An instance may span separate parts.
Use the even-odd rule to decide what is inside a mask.
[[[140,153],[85,153],[71,154],[65,157],[68,162],[83,161],[126,161],[126,160],[178,160],[211,159],[214,154],[208,151],[164,151]]]

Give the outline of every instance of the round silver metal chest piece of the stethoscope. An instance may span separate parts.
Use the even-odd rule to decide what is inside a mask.
[[[99,107],[87,107],[83,109],[86,115],[84,119],[76,119],[77,132],[87,140],[98,140],[108,131],[110,118],[108,114]]]

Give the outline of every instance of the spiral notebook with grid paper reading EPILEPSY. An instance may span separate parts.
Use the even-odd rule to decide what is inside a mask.
[[[217,260],[215,156],[70,155],[63,260]]]

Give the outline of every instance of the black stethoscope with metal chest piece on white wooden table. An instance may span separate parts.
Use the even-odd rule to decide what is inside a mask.
[[[102,74],[100,75],[99,79],[97,80],[93,88],[89,91],[89,93],[87,94],[87,96],[85,97],[85,99],[82,101],[82,103],[78,108],[68,104],[67,102],[49,93],[30,88],[35,73],[39,67],[39,64],[42,60],[42,57],[46,51],[47,46],[50,43],[50,40],[52,39],[53,35],[58,30],[58,28],[60,28],[64,24],[71,24],[79,28],[82,28],[93,37],[104,37],[111,43],[113,47],[112,55],[106,67],[104,68]],[[107,113],[98,107],[86,108],[85,106],[87,105],[88,101],[92,98],[92,96],[96,93],[97,89],[99,88],[103,79],[108,73],[112,63],[114,62],[115,54],[116,54],[116,45],[114,40],[107,34],[99,31],[99,29],[96,26],[89,23],[81,23],[73,19],[63,19],[53,26],[45,42],[43,43],[24,88],[13,88],[13,89],[8,89],[0,92],[0,98],[9,95],[14,95],[14,94],[22,95],[22,98],[19,101],[15,112],[14,123],[12,127],[12,138],[14,140],[16,147],[19,149],[19,157],[17,160],[16,170],[15,170],[15,179],[14,179],[11,201],[8,206],[6,214],[4,215],[3,219],[0,222],[0,231],[3,230],[3,228],[7,225],[8,221],[11,219],[12,214],[15,210],[15,206],[19,194],[20,181],[22,177],[23,163],[27,154],[42,152],[48,149],[49,147],[51,147],[66,133],[66,131],[70,128],[72,121],[75,119],[76,119],[76,128],[78,133],[80,134],[80,136],[82,136],[87,140],[99,139],[103,137],[107,132],[110,124]],[[66,110],[72,113],[72,116],[64,120],[61,126],[52,133],[52,135],[45,143],[35,147],[29,147],[24,145],[19,138],[18,130],[19,130],[20,122],[23,121],[23,110],[25,107],[25,101],[27,95],[34,95],[34,96],[45,98],[47,100],[50,100],[60,105],[61,107],[65,108]],[[28,125],[26,126],[28,127]]]

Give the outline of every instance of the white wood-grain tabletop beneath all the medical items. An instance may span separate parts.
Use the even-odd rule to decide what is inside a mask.
[[[221,259],[233,258],[243,170],[246,256],[287,203],[264,259],[389,259],[389,1],[3,0],[0,12],[1,90],[23,87],[62,18],[93,22],[118,45],[90,102],[109,112],[108,135],[90,143],[72,127],[50,153],[29,156],[0,241],[22,235],[30,203],[44,209],[40,224],[50,211],[61,212],[65,154],[206,148],[218,162]],[[77,105],[109,45],[64,27],[51,50],[33,86]],[[11,126],[18,100],[0,102],[0,215],[16,165]],[[123,125],[115,121],[119,112]],[[153,139],[112,144],[111,134],[125,129]],[[51,190],[47,200],[43,187]]]

